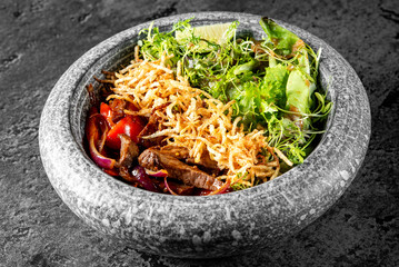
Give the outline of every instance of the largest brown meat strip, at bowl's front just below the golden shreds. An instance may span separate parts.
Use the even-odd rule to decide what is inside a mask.
[[[198,169],[181,162],[176,157],[164,154],[159,148],[148,148],[139,156],[139,164],[152,171],[166,169],[169,177],[181,180],[184,185],[217,190],[223,182]]]

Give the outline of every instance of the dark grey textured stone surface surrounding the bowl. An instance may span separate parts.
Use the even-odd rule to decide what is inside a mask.
[[[303,28],[352,65],[370,98],[372,137],[342,198],[283,246],[218,260],[137,253],[87,227],[40,162],[40,111],[66,69],[99,41],[162,16],[208,10],[266,14]],[[52,1],[0,3],[0,264],[4,266],[397,266],[399,264],[399,7],[395,1]]]

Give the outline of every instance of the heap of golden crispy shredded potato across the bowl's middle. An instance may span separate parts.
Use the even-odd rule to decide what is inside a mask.
[[[143,137],[151,139],[164,137],[167,146],[188,148],[196,162],[203,154],[218,162],[226,175],[218,177],[240,182],[246,187],[253,186],[256,178],[270,180],[279,175],[280,164],[287,158],[279,150],[273,150],[267,142],[262,130],[245,132],[239,125],[241,118],[232,121],[233,101],[223,103],[203,90],[190,87],[188,80],[177,75],[167,59],[141,60],[136,50],[134,60],[130,66],[116,73],[112,98],[132,102],[139,111],[124,110],[126,113],[150,117],[156,113],[160,119],[160,131]],[[157,109],[163,105],[166,108]],[[266,158],[262,151],[270,156]]]

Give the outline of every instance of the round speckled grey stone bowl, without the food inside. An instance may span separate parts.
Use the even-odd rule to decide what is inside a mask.
[[[265,33],[259,16],[231,12],[188,13],[154,20],[161,31],[173,22],[240,21],[240,31]],[[322,215],[348,188],[365,158],[370,137],[367,93],[349,63],[319,38],[288,23],[313,49],[322,49],[320,81],[333,110],[316,150],[305,162],[251,189],[208,197],[180,197],[133,188],[102,172],[82,146],[89,109],[84,86],[100,71],[116,70],[133,55],[139,32],[132,27],[78,59],[52,89],[42,111],[40,152],[53,188],[91,227],[129,246],[158,255],[210,258],[253,253],[277,244]]]

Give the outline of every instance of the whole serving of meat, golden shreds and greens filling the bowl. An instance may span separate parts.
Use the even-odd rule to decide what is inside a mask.
[[[238,22],[219,42],[196,36],[189,21],[170,32],[150,27],[134,60],[102,80],[111,90],[103,121],[87,126],[93,160],[112,162],[104,170],[133,186],[172,195],[245,189],[300,164],[320,132],[315,122],[331,108],[315,92],[319,55],[273,21],[260,23],[263,42],[237,38]]]

